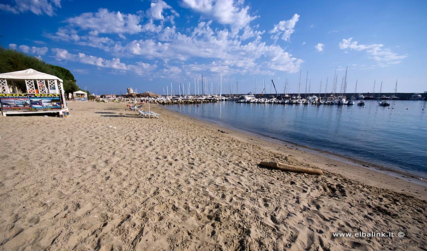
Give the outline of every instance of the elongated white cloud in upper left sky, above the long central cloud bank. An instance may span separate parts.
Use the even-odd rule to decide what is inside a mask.
[[[142,31],[141,17],[133,14],[109,12],[99,9],[97,13],[83,13],[78,17],[69,18],[70,25],[82,30],[103,34],[136,34]]]

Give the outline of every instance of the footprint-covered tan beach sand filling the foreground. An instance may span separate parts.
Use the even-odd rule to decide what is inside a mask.
[[[159,105],[160,119],[68,105],[67,118],[0,117],[2,250],[427,249],[427,190],[404,176]]]

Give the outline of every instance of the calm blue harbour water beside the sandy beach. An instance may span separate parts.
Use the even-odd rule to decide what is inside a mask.
[[[170,109],[221,126],[375,163],[427,179],[427,102],[366,100],[364,107],[245,104]]]

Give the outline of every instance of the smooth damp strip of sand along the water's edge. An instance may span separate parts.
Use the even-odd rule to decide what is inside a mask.
[[[159,105],[158,107],[163,107],[163,105]],[[427,199],[427,181],[424,181],[422,180],[422,178],[416,177],[413,174],[405,173],[405,172],[401,172],[393,169],[387,169],[383,166],[376,165],[375,163],[365,162],[365,161],[345,157],[342,155],[330,153],[327,151],[309,148],[309,147],[298,145],[292,142],[287,142],[284,140],[265,136],[262,134],[241,130],[238,128],[228,126],[226,124],[217,123],[215,121],[199,119],[186,114],[182,114],[179,111],[172,110],[167,107],[165,107],[164,110],[171,112],[171,114],[174,114],[176,116],[185,117],[186,119],[191,120],[191,122],[197,121],[200,124],[205,124],[205,126],[207,127],[217,128],[217,130],[222,130],[222,131],[227,130],[228,133],[231,133],[228,135],[236,136],[238,139],[241,139],[241,140],[247,137],[251,141],[254,141],[254,140],[260,141],[260,145],[262,145],[263,147],[277,149],[277,148],[280,148],[280,146],[282,146],[282,147],[286,147],[289,150],[292,150],[292,149],[297,151],[302,150],[302,152],[308,152],[313,156],[322,156],[326,159],[334,160],[339,163],[344,163],[348,166],[347,169],[349,169],[350,167],[357,167],[358,169],[357,171],[351,170],[350,172],[348,172],[349,170],[346,170],[346,168],[342,168],[342,167],[339,168],[339,170],[334,170],[334,168],[331,168],[331,167],[325,167],[325,168],[330,172],[335,172],[347,178],[365,182],[368,185],[379,186],[381,188],[389,189],[395,192],[410,194],[411,196],[414,196],[414,197],[424,198],[424,200]],[[276,144],[276,146],[275,147],[268,146],[268,143]],[[363,173],[363,170],[367,170],[369,172],[364,173],[360,177],[359,175]],[[381,180],[382,182],[385,181],[386,183],[376,184],[377,182],[376,178],[372,178],[372,176],[376,177],[376,174],[379,175],[378,177],[379,180]],[[385,175],[385,177],[383,175]],[[399,179],[404,184],[396,186],[394,182],[395,179]],[[410,184],[413,184],[413,186]]]

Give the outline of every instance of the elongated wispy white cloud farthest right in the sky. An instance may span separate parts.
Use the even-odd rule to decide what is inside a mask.
[[[353,38],[343,39],[339,43],[339,47],[342,50],[350,49],[356,51],[366,51],[368,55],[378,62],[380,66],[386,66],[390,64],[398,64],[401,59],[407,57],[407,55],[399,55],[392,52],[389,48],[383,48],[383,44],[372,44],[372,45],[363,45],[359,44],[357,41],[352,41]]]

